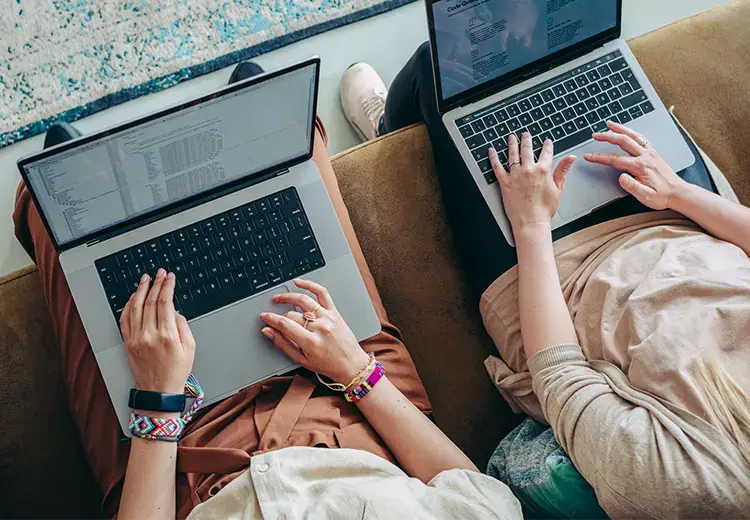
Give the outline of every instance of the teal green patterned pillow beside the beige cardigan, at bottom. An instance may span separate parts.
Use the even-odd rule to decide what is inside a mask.
[[[487,474],[513,491],[524,518],[608,518],[552,429],[534,419],[527,418],[500,442]]]

